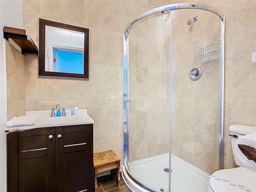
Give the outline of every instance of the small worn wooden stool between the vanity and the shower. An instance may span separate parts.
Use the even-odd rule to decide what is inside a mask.
[[[114,151],[104,151],[94,153],[94,168],[95,168],[95,192],[98,192],[97,188],[97,173],[110,170],[110,173],[116,180],[116,184],[120,187],[120,159],[114,153]]]

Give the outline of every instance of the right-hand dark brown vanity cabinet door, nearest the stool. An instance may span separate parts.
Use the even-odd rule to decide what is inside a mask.
[[[56,127],[56,178],[57,192],[94,191],[92,124]]]

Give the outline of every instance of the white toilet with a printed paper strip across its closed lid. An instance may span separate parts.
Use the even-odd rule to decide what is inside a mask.
[[[218,170],[209,176],[208,192],[256,192],[256,168],[243,164],[235,151],[236,140],[241,136],[256,133],[256,127],[232,125],[229,130],[234,160],[239,167]]]

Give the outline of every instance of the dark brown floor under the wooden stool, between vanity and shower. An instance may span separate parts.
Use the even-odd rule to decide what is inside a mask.
[[[123,178],[120,178],[120,187],[117,186],[115,180],[102,182],[98,184],[98,192],[131,192],[125,184]]]

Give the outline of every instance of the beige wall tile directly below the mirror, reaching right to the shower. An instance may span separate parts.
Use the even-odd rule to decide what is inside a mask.
[[[90,64],[90,80],[40,78],[40,99],[119,98],[119,67]]]

